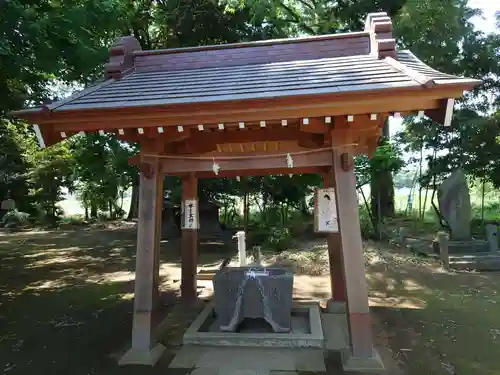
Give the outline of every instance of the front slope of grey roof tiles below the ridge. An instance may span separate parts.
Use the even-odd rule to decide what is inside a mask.
[[[410,77],[375,56],[337,57],[175,72],[134,72],[55,110],[220,102],[416,85]]]

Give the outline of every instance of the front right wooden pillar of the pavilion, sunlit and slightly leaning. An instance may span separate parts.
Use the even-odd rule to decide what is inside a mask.
[[[375,352],[365,279],[356,177],[350,150],[334,150],[333,165],[336,177],[337,209],[347,297],[347,320],[351,345],[350,361],[359,365],[359,360],[374,359]]]

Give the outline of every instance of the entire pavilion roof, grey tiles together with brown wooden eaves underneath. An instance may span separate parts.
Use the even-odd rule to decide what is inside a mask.
[[[82,131],[113,132],[160,153],[210,151],[236,135],[249,142],[249,133],[221,132],[224,123],[227,130],[236,129],[234,124],[254,127],[255,139],[293,138],[300,147],[317,147],[332,142],[324,123],[353,121],[353,115],[382,121],[389,113],[418,111],[449,125],[454,98],[480,83],[397,51],[386,13],[369,14],[363,32],[295,39],[142,51],[128,36],[109,56],[102,82],[12,115],[34,124],[42,147]],[[299,118],[308,124],[308,118],[314,123],[322,117],[322,126],[298,125]],[[286,119],[294,129],[272,133],[278,121],[286,126]],[[373,148],[378,127],[363,121],[366,134],[358,141]],[[266,122],[267,132],[260,129]],[[203,137],[218,132],[208,147],[194,130]]]

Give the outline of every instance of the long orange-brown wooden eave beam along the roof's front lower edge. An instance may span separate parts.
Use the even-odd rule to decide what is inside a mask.
[[[48,115],[26,114],[24,117],[42,126],[54,124],[54,130],[92,130],[140,126],[178,126],[199,123],[238,123],[267,121],[283,118],[339,116],[373,112],[405,112],[432,109],[443,97],[460,97],[463,87],[437,86],[432,89],[385,90],[304,97],[286,97],[266,100],[247,100],[158,107],[119,109],[86,109],[82,111],[51,112]]]

